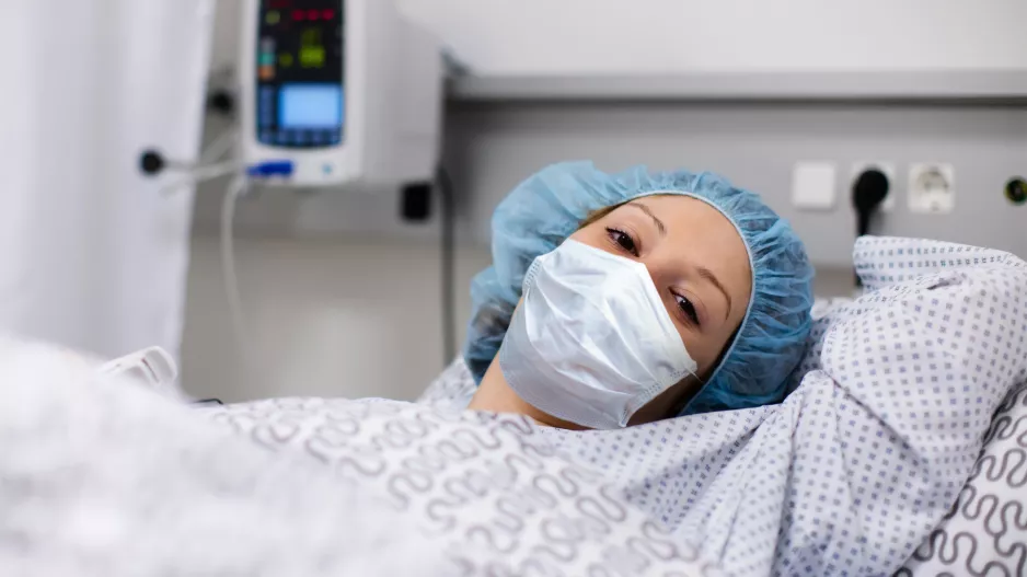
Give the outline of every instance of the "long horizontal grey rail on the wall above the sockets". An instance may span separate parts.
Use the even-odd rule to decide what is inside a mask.
[[[1027,105],[1027,70],[457,77],[458,102],[852,102]]]

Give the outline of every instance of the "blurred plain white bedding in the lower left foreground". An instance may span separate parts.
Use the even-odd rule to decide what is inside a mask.
[[[92,363],[0,338],[0,575],[452,575],[319,463]]]

